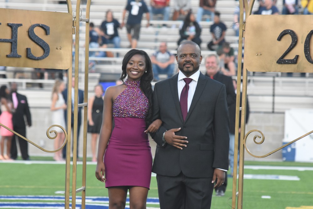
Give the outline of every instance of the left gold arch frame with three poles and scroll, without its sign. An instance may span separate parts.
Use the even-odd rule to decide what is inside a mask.
[[[72,191],[70,191],[70,143],[71,143],[71,112],[72,112],[72,62],[70,64],[70,68],[68,69],[68,92],[67,92],[67,130],[65,130],[64,127],[60,125],[51,125],[47,131],[47,137],[49,139],[55,139],[57,136],[57,132],[55,130],[50,130],[52,127],[59,127],[63,130],[65,133],[65,140],[63,145],[58,148],[57,150],[46,150],[43,147],[35,144],[31,140],[23,137],[22,135],[18,134],[14,130],[8,128],[7,126],[0,124],[0,126],[3,126],[4,128],[8,129],[9,131],[13,132],[14,134],[18,135],[19,137],[23,138],[24,140],[28,141],[30,144],[36,146],[40,150],[43,150],[44,152],[57,152],[61,150],[65,144],[66,146],[66,160],[65,160],[65,209],[75,209],[76,208],[76,193],[82,192],[81,197],[81,208],[85,208],[86,203],[86,143],[87,143],[87,101],[88,101],[88,63],[89,63],[89,17],[90,17],[90,5],[91,0],[87,0],[86,3],[86,18],[81,18],[81,0],[76,0],[76,12],[73,13],[72,10],[72,3],[70,0],[66,0],[67,3],[67,10],[68,13],[73,15],[73,30],[71,31],[71,35],[75,34],[75,70],[74,70],[74,76],[75,76],[75,87],[74,87],[74,127],[73,127],[73,167],[72,167]],[[84,103],[78,104],[78,69],[79,69],[79,26],[80,22],[86,22],[86,56],[85,56],[85,80],[84,80]],[[72,38],[71,38],[72,41]],[[68,44],[68,43],[67,43]],[[72,48],[72,43],[71,43]],[[62,48],[57,48],[62,49]],[[68,59],[72,60],[72,56],[70,56]],[[59,61],[59,60],[56,60]],[[4,65],[6,66],[6,65]],[[9,66],[9,65],[8,65]],[[28,66],[24,66],[28,67]],[[78,115],[78,108],[83,107],[84,108],[84,115],[83,115],[83,168],[82,168],[82,186],[78,189],[76,189],[76,168],[77,168],[77,115]],[[54,133],[55,136],[51,136],[50,134]],[[72,193],[72,205],[70,207],[70,193]]]

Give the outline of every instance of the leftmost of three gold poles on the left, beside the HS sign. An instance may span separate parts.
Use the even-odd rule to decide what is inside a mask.
[[[73,14],[72,3],[66,0],[68,13]],[[72,60],[71,55],[71,60]],[[72,112],[72,64],[67,70],[67,142],[66,142],[66,159],[65,159],[65,209],[70,208],[70,142],[71,142],[71,112]]]

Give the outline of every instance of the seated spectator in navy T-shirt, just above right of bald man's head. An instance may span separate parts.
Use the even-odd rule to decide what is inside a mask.
[[[219,45],[225,41],[226,25],[220,21],[220,13],[214,13],[214,24],[210,27],[210,32],[212,34],[212,41],[207,45],[208,49],[214,51],[213,46]]]

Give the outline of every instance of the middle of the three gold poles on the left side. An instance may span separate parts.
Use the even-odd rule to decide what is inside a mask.
[[[74,85],[74,115],[78,115],[78,67],[79,67],[79,21],[81,1],[76,1],[75,19],[75,85]],[[74,117],[73,127],[73,173],[72,173],[72,209],[76,208],[76,172],[77,172],[77,117]]]

